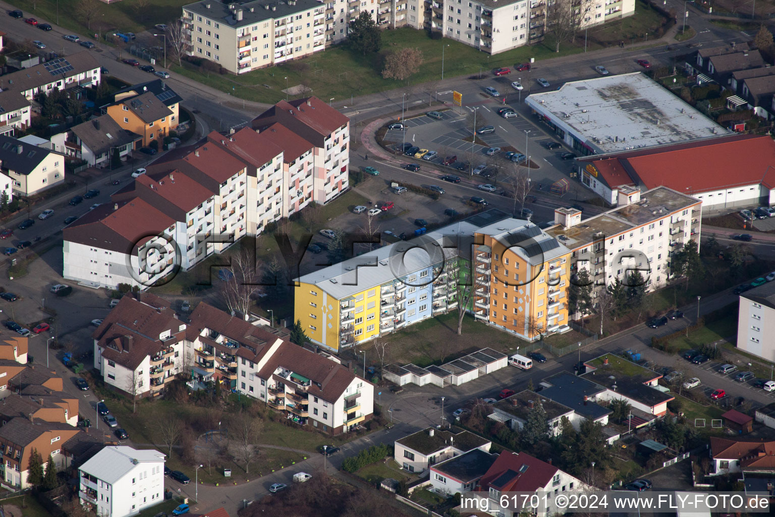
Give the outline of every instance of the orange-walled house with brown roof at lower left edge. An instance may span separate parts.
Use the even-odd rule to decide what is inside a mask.
[[[40,453],[43,463],[53,457],[57,470],[68,467],[71,454],[67,452],[70,441],[77,442],[77,435],[84,434],[76,427],[63,423],[43,422],[17,417],[0,426],[2,447],[2,477],[13,488],[28,488],[29,459],[33,449]]]

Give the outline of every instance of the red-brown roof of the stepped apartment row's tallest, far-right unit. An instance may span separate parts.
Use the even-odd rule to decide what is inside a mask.
[[[317,97],[280,101],[251,121],[259,129],[279,122],[294,133],[322,147],[325,138],[350,122],[345,115]]]

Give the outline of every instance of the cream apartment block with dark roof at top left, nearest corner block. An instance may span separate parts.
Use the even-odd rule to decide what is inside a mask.
[[[183,6],[188,54],[244,74],[325,49],[325,5],[315,0],[204,0]]]

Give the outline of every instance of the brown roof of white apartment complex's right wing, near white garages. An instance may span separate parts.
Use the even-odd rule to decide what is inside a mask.
[[[269,357],[267,364],[258,372],[258,375],[268,379],[278,367],[284,367],[286,370],[307,377],[312,381],[312,384],[307,388],[307,393],[328,402],[336,402],[353,379],[358,377],[341,364],[301,348],[290,341],[283,341],[277,351]],[[364,380],[364,382],[368,381]]]

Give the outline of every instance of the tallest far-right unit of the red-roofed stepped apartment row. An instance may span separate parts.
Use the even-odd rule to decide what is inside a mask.
[[[263,133],[275,122],[314,146],[314,202],[325,205],[349,188],[350,119],[321,99],[308,97],[277,102],[250,123]],[[301,181],[288,184],[288,188],[298,188],[298,184]]]

